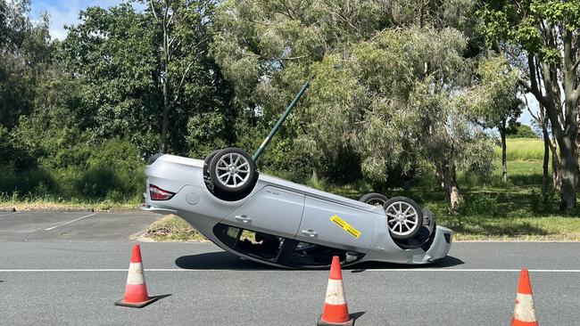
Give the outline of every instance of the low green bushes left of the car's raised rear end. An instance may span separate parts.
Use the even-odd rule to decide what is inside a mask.
[[[63,152],[79,156],[72,151]],[[46,163],[40,159],[40,167],[25,171],[4,167],[0,170],[0,192],[8,196],[15,194],[22,200],[52,198],[119,202],[141,196],[145,184],[145,162],[139,158],[133,144],[113,139],[83,151],[89,155],[79,165],[54,167],[53,161]]]

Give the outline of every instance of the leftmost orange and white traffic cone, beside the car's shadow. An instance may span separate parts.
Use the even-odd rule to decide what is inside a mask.
[[[141,261],[141,248],[137,243],[135,246],[133,246],[131,262],[128,265],[125,297],[115,302],[115,306],[142,308],[153,303],[155,300],[157,300],[157,297],[149,297],[147,294],[145,273],[143,273],[143,262]]]

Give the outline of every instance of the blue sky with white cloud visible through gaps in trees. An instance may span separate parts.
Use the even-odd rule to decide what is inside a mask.
[[[101,6],[104,8],[120,4],[120,0],[32,0],[30,16],[37,20],[42,12],[48,12],[50,15],[50,35],[53,38],[64,39],[67,35],[65,25],[79,23],[79,12],[90,6]],[[533,96],[527,96],[532,110],[537,110],[537,102],[532,99]],[[533,118],[525,109],[518,121],[532,125]]]

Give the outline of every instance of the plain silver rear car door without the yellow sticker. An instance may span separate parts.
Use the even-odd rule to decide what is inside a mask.
[[[304,195],[266,186],[224,219],[224,223],[293,239],[298,232]]]

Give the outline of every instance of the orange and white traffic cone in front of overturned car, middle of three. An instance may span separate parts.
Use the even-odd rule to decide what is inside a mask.
[[[332,257],[330,275],[328,276],[327,297],[320,315],[318,326],[352,326],[354,320],[348,314],[348,307],[344,299],[343,273],[340,270],[338,257]]]

